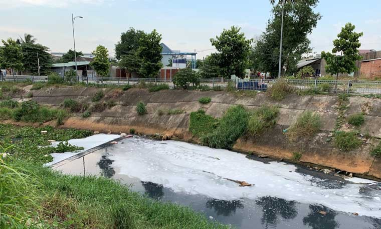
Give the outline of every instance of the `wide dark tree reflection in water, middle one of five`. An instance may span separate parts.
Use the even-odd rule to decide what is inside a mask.
[[[217,215],[229,216],[236,213],[237,208],[244,208],[240,200],[210,199],[207,201],[208,208],[214,208]]]

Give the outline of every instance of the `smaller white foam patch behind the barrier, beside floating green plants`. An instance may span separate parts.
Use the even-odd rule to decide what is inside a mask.
[[[116,134],[95,134],[92,136],[88,136],[85,138],[79,138],[79,139],[70,139],[68,142],[72,145],[76,145],[79,147],[83,147],[84,149],[77,151],[77,152],[64,152],[64,153],[52,153],[51,155],[53,156],[53,161],[46,163],[46,166],[58,163],[62,160],[65,160],[71,156],[74,156],[78,153],[81,153],[83,151],[86,151],[88,149],[94,148],[98,145],[104,144],[110,140],[116,139],[120,137],[119,135]],[[57,146],[60,141],[53,142],[53,146]]]

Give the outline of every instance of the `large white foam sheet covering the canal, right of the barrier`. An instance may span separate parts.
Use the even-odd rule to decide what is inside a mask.
[[[328,188],[324,180],[296,172],[296,166],[284,162],[263,163],[229,150],[179,141],[128,138],[122,143],[110,150],[113,167],[121,174],[159,183],[175,192],[224,200],[274,196],[381,217],[381,191],[362,184],[379,185],[374,181],[354,179],[363,182]],[[225,178],[255,185],[240,187]]]

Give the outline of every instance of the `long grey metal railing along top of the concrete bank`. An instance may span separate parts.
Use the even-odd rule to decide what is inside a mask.
[[[53,79],[49,77],[54,77]],[[7,75],[2,81],[30,81],[36,82],[72,82],[86,84],[106,85],[138,85],[138,84],[168,84],[174,88],[171,79],[161,78],[121,78],[121,77],[62,77],[62,76],[35,76],[35,75]],[[279,79],[225,79],[209,78],[200,79],[200,85],[192,86],[200,90],[224,90],[227,87],[239,90],[266,91],[274,86]],[[318,80],[318,79],[287,79],[287,84],[296,91],[318,92],[318,93],[351,93],[351,94],[381,94],[381,81],[364,80]],[[144,86],[144,85],[143,85]]]

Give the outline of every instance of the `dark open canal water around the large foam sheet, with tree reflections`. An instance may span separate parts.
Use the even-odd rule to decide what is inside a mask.
[[[112,149],[112,145],[109,145],[77,159],[66,160],[55,169],[76,175],[93,174],[118,179],[122,183],[131,185],[131,190],[144,193],[154,199],[169,200],[190,206],[196,211],[204,212],[211,220],[232,224],[237,228],[381,229],[381,219],[354,216],[318,204],[305,204],[273,196],[263,196],[257,199],[220,200],[206,195],[174,192],[162,184],[120,174],[118,167],[113,166],[114,161],[109,158]],[[266,159],[261,160],[264,163],[267,162]],[[125,164],[125,166],[129,166],[129,164]],[[322,185],[325,185],[326,188],[339,188],[346,182],[338,177],[310,171],[303,167],[298,167],[297,171],[309,173],[318,180],[324,179]],[[360,191],[369,191],[367,188],[365,186]],[[372,187],[369,188],[372,189]],[[375,188],[377,189],[379,186]],[[323,215],[321,212],[326,212],[326,214]]]

